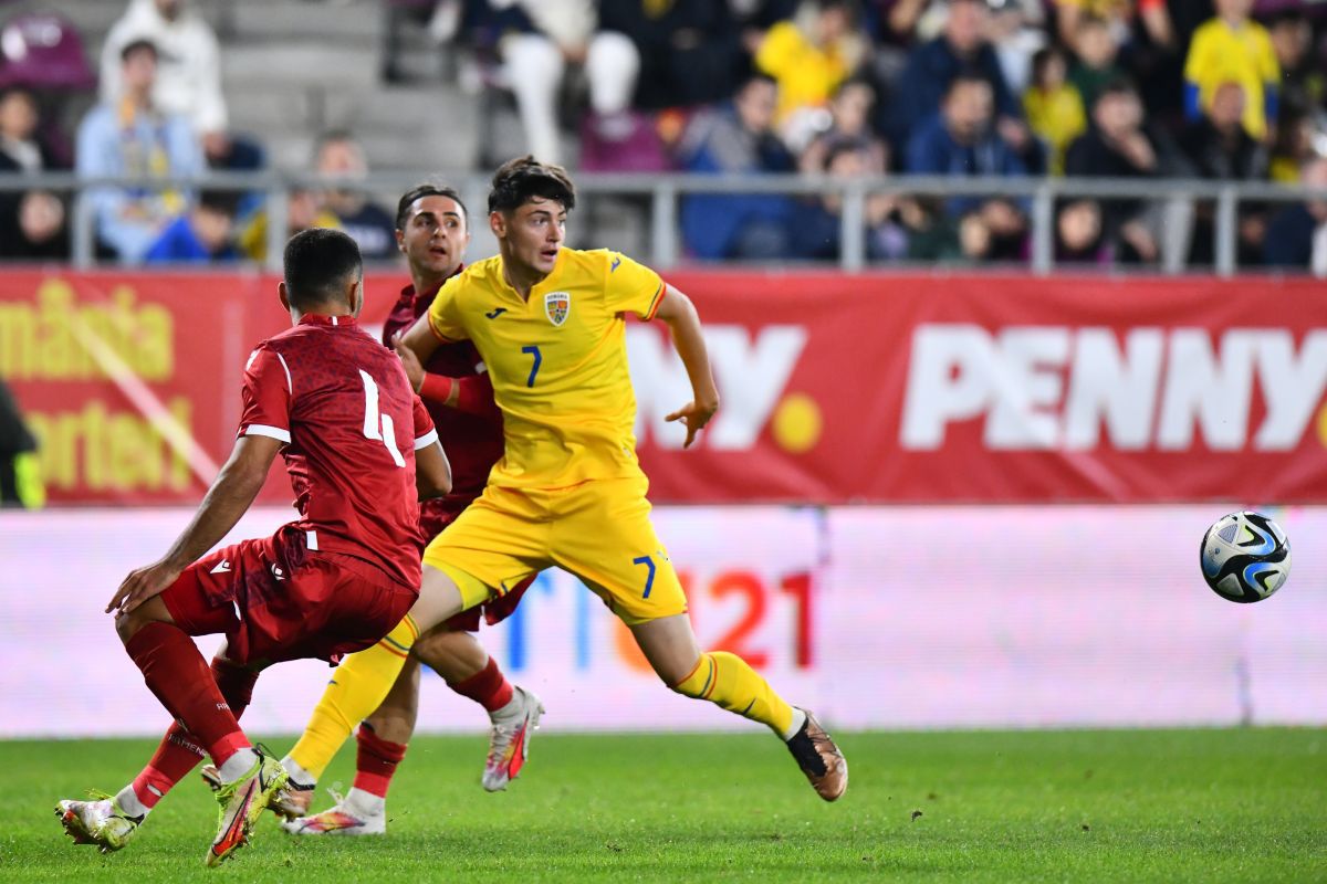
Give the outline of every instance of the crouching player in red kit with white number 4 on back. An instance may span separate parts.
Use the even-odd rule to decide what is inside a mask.
[[[292,237],[279,296],[293,327],[248,359],[230,460],[166,555],[131,571],[106,606],[176,724],[115,797],[57,804],[74,842],[102,852],[122,848],[206,751],[222,781],[206,859],[224,860],[265,807],[280,812],[291,801],[287,771],[236,722],[257,672],[380,641],[407,648],[415,637],[405,615],[421,577],[417,494],[451,486],[438,432],[399,359],[356,323],[364,274],[354,240],[326,229]],[[277,452],[300,518],[204,555],[253,502]],[[226,645],[208,669],[190,636],[218,632]]]

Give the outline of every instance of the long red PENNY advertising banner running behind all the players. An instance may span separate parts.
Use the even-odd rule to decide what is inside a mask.
[[[678,272],[723,404],[698,445],[664,330],[628,329],[641,460],[677,502],[1327,500],[1312,281]],[[365,321],[401,280],[368,281]],[[0,278],[0,376],[54,502],[192,502],[275,280]],[[281,500],[281,481],[267,500]]]

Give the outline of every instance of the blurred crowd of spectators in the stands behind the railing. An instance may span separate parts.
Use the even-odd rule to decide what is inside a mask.
[[[342,5],[307,1],[329,15]],[[393,64],[402,30],[423,28],[490,93],[510,95],[525,148],[583,171],[1327,186],[1327,8],[1304,0],[382,3],[385,80],[405,76]],[[53,129],[50,103],[90,86],[68,74],[78,34],[58,13],[15,16],[0,58],[0,172],[263,168],[260,134],[228,127],[222,49],[195,5],[129,0],[98,48],[100,102],[72,138]],[[15,57],[24,36],[40,52]],[[309,167],[346,187],[293,193],[292,232],[341,227],[366,258],[391,257],[390,213],[354,188],[368,171],[356,135],[324,134]],[[98,254],[125,264],[265,250],[259,195],[96,187],[90,204]],[[833,258],[841,212],[829,192],[694,195],[681,233],[699,260]],[[1193,265],[1213,261],[1214,215],[1198,201],[1185,219]],[[1028,205],[1016,199],[873,193],[864,223],[872,261],[1020,261],[1030,250]],[[1173,223],[1151,200],[1064,199],[1055,258],[1154,264]],[[0,192],[0,257],[68,254],[66,199]],[[1327,274],[1327,204],[1242,204],[1238,261]]]

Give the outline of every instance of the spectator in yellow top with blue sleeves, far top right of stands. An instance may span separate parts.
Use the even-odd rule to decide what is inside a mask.
[[[1265,140],[1277,121],[1281,65],[1267,29],[1249,17],[1253,0],[1216,0],[1217,17],[1204,23],[1189,44],[1184,65],[1184,109],[1200,119],[1222,83],[1243,87],[1243,127]]]

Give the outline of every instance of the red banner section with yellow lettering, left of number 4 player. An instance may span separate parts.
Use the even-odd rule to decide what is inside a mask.
[[[253,273],[0,276],[0,378],[50,502],[196,502],[235,439],[244,360],[288,325]],[[273,470],[261,500],[289,498]]]

